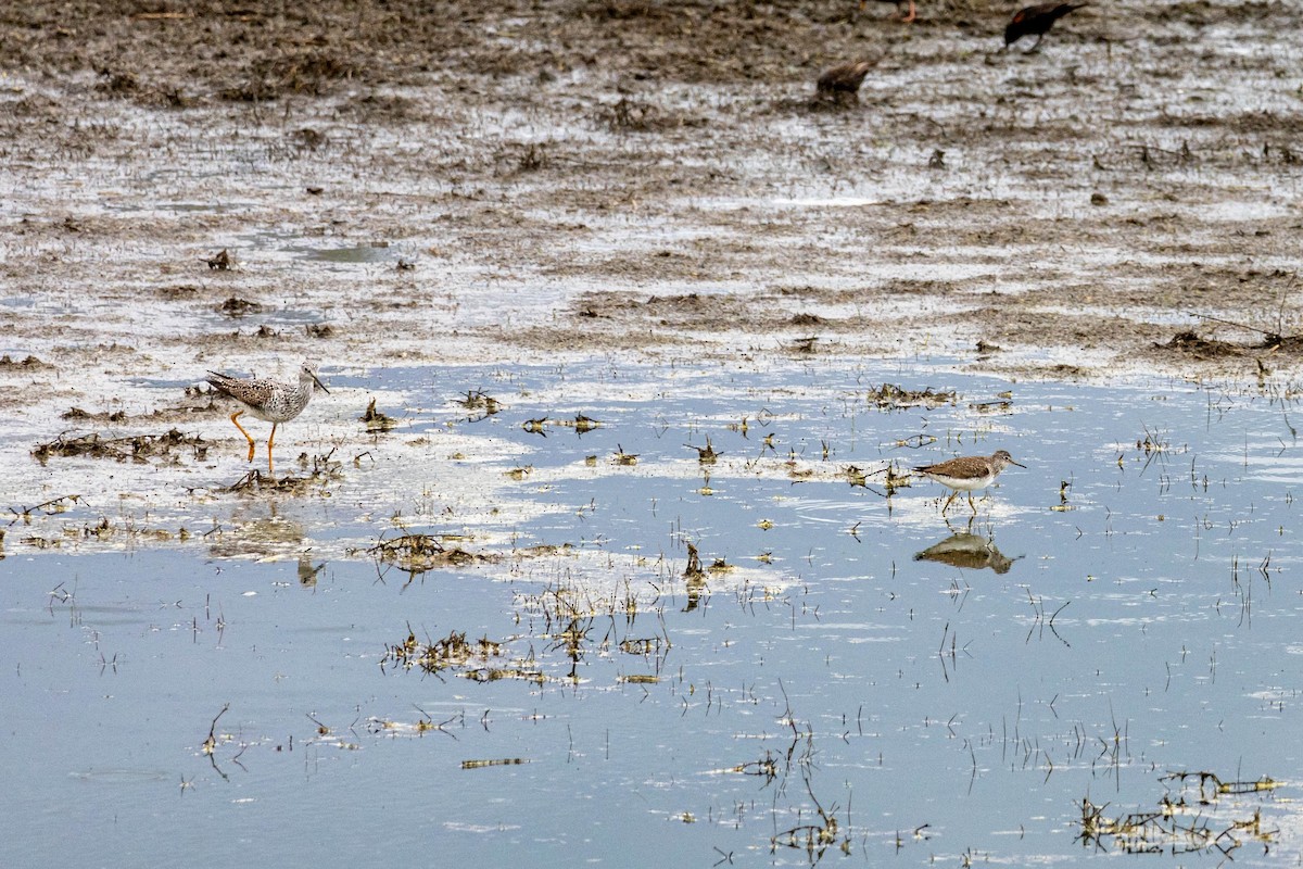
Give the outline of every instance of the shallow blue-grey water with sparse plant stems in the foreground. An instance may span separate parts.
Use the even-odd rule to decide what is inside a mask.
[[[1083,799],[1197,803],[1175,771],[1281,782],[1177,817],[1216,834],[1260,809],[1270,855],[1240,830],[1235,861],[1303,857],[1303,466],[1276,390],[820,357],[326,378],[283,455],[354,426],[340,408],[367,391],[400,421],[328,498],[219,492],[244,469],[222,442],[152,470],[207,486],[151,496],[188,541],[73,539],[100,515],[78,504],[9,526],[4,865],[808,864],[782,834],[826,829],[817,805],[829,862],[1078,864],[1115,848],[1079,840]],[[883,383],[956,399],[881,409]],[[459,404],[480,390],[503,408]],[[601,426],[558,423],[579,413]],[[542,417],[546,436],[523,427]],[[936,483],[887,498],[872,476],[998,448],[1027,469],[971,522]],[[495,560],[366,554],[403,533]],[[728,568],[685,581],[688,543]],[[409,629],[502,654],[404,670],[386,651]]]

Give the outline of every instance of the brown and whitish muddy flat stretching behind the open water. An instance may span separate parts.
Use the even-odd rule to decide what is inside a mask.
[[[302,357],[369,378],[354,452],[403,367],[1290,388],[1295,9],[1126,3],[1027,53],[1001,4],[869,5],[9,8],[10,496],[61,494],[26,490],[65,434],[233,434],[188,387]],[[852,57],[859,99],[812,102]]]

